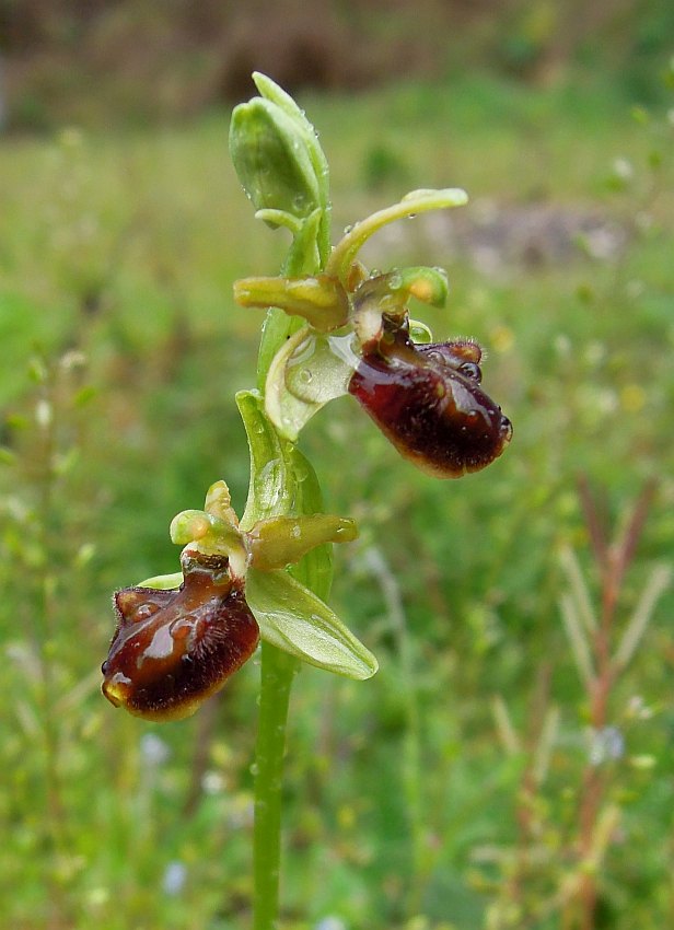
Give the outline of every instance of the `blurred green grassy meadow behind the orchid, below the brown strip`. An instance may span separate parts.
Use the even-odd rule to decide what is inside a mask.
[[[558,261],[486,272],[469,237],[450,254],[421,218],[404,225],[400,259],[428,260],[430,241],[453,289],[450,315],[418,315],[489,349],[485,380],[515,433],[458,485],[398,461],[349,398],[303,434],[326,508],[363,531],[335,554],[333,603],[381,670],[367,686],[309,667],[295,683],[286,926],[558,926],[590,753],[604,780],[599,914],[618,930],[667,926],[672,588],[611,693],[620,752],[613,731],[589,740],[558,605],[582,609],[579,577],[595,609],[601,593],[579,473],[618,525],[659,479],[617,649],[674,551],[671,126],[572,88],[483,81],[322,101],[312,115],[346,204],[337,229],[382,206],[356,199],[352,178],[381,127],[399,124],[419,185],[461,184],[475,209],[537,190],[550,211],[583,205],[627,235],[608,257],[585,236]],[[218,118],[0,152],[0,912],[21,930],[248,919],[253,663],[161,735],[107,706],[97,671],[109,590],[175,566],[171,516],[200,507],[220,474],[244,510],[230,398],[251,383],[258,327],[229,294],[242,272],[278,266],[284,233],[254,239],[223,149]],[[619,189],[606,183],[617,158],[631,166]],[[569,549],[578,572],[559,560]]]

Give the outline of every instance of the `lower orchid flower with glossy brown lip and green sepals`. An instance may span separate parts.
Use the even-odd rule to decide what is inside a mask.
[[[259,398],[237,396],[251,440],[253,476],[257,446],[276,443],[279,467],[266,488],[264,511],[242,523],[224,481],[208,490],[204,510],[185,510],[171,523],[184,546],[182,572],[158,576],[114,595],[117,627],[103,663],[103,694],[116,707],[149,720],[188,717],[254,653],[259,639],[319,669],[369,678],[376,660],[316,594],[286,571],[309,553],[321,565],[326,544],[358,535],[352,520],[327,513],[271,515],[281,501],[277,481],[288,481],[297,453],[283,450]],[[283,458],[286,456],[286,458]],[[306,479],[305,479],[306,480]],[[294,496],[294,491],[293,491]]]

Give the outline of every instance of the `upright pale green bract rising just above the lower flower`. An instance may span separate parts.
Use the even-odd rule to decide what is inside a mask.
[[[240,391],[235,399],[251,452],[248,499],[241,519],[241,530],[245,532],[258,520],[289,513],[295,497],[295,478],[291,446],[269,421],[259,394]]]

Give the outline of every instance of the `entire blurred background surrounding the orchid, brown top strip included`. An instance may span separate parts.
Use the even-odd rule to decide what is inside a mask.
[[[282,926],[671,926],[673,10],[1,0],[2,928],[248,926],[256,663],[163,726],[107,705],[98,666],[111,591],[175,570],[172,516],[220,477],[245,501],[262,314],[232,283],[287,246],[226,155],[253,69],[321,133],[334,239],[410,188],[468,190],[367,259],[448,268],[448,309],[417,315],[485,346],[514,423],[461,484],[351,398],[302,437],[359,520],[333,603],[381,671],[297,681]],[[637,646],[599,717],[592,613]]]

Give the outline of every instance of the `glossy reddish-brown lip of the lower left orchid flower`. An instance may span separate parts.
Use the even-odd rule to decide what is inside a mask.
[[[259,629],[228,559],[183,556],[175,591],[126,588],[114,595],[117,629],[102,671],[103,694],[150,720],[179,720],[251,658]]]

